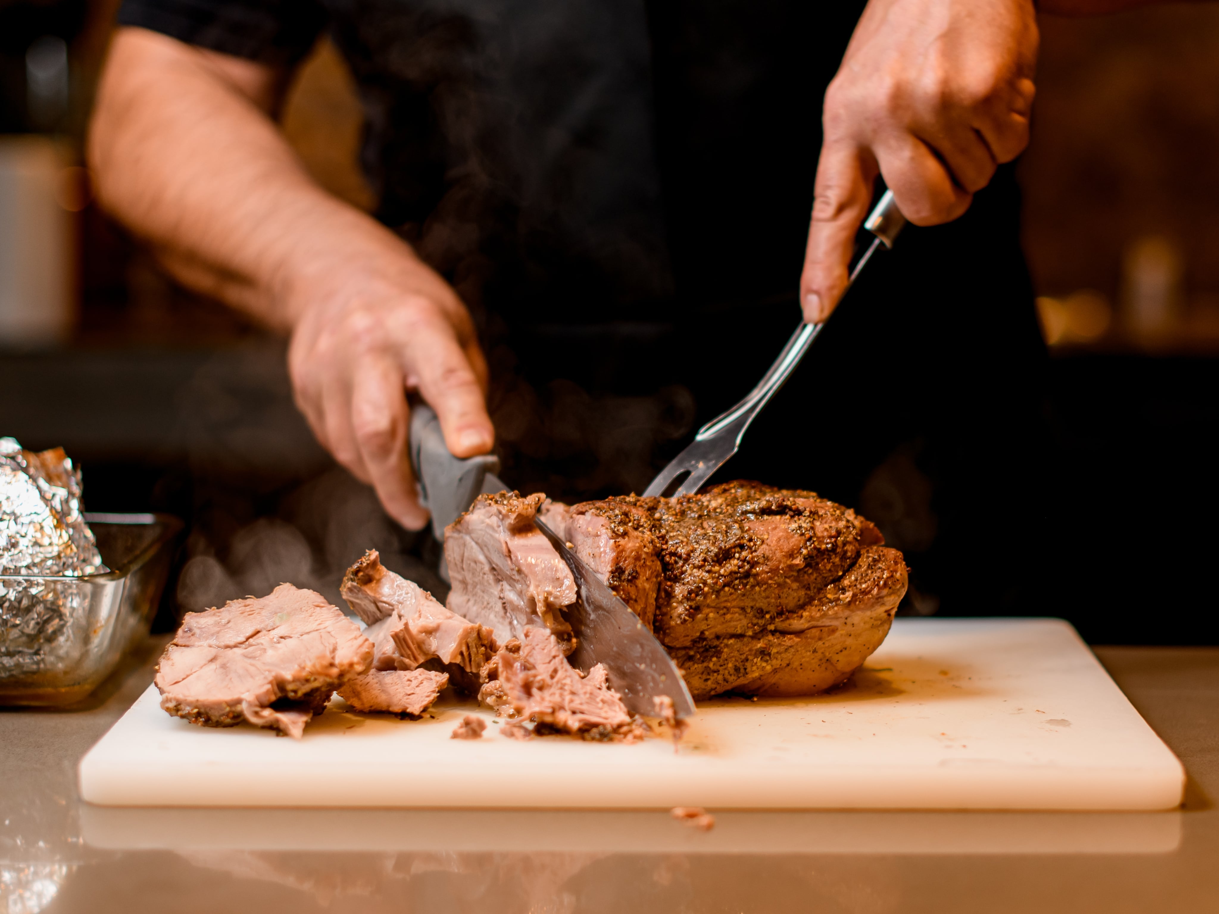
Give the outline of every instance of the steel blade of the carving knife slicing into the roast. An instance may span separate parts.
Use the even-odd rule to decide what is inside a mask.
[[[635,714],[664,717],[655,701],[663,696],[673,702],[678,720],[692,715],[694,698],[669,652],[558,534],[541,520],[536,523],[575,579],[578,596],[564,613],[578,639],[567,658],[572,665],[588,673],[595,664],[605,664],[610,686]]]

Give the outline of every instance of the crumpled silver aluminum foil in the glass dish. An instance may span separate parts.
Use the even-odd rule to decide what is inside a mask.
[[[0,439],[0,676],[39,673],[84,648],[88,596],[43,576],[108,570],[80,506],[80,472],[63,448]]]

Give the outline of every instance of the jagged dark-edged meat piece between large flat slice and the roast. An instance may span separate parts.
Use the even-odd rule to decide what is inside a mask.
[[[374,646],[374,669],[429,664],[462,691],[478,692],[478,671],[499,647],[490,629],[450,612],[418,584],[385,568],[375,550],[347,569],[340,593],[352,612],[371,620],[364,636]]]

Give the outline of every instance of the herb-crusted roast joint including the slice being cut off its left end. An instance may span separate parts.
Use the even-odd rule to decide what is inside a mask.
[[[884,641],[906,593],[901,552],[814,492],[737,481],[573,507],[484,495],[445,539],[450,606],[500,637],[529,625],[570,634],[561,617],[574,587],[534,517],[652,629],[696,700],[813,695],[842,682]]]

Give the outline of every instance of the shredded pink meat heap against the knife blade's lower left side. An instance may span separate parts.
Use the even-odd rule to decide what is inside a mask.
[[[600,663],[588,676],[567,662],[555,636],[528,626],[496,654],[497,681],[516,717],[591,739],[635,736],[636,725]]]

